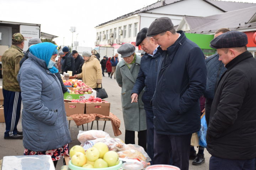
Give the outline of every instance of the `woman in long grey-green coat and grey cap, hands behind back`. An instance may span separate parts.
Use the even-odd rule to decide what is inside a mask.
[[[135,54],[135,46],[132,44],[123,44],[117,52],[123,58],[116,67],[116,81],[122,87],[125,143],[135,144],[135,131],[138,131],[138,145],[146,151],[146,114],[142,102],[144,91],[139,94],[137,103],[131,103],[132,89],[140,69],[140,57]]]

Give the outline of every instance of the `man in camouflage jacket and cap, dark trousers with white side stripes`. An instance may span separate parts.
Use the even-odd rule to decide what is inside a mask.
[[[21,111],[21,90],[17,81],[22,51],[26,39],[21,33],[12,35],[12,45],[2,55],[2,91],[4,95],[5,139],[22,139],[22,131],[17,130]]]

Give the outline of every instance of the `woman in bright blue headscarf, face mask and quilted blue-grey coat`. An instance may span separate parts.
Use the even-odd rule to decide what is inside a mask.
[[[71,142],[62,88],[54,74],[58,72],[54,67],[57,55],[57,46],[50,42],[31,46],[17,76],[24,155],[51,155],[55,167],[63,155],[69,155]]]

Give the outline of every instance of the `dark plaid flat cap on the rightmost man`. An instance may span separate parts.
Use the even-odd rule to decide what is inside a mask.
[[[223,33],[210,42],[213,49],[244,47],[248,44],[247,35],[239,31]]]

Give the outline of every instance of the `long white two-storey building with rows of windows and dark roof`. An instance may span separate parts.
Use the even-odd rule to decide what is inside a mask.
[[[225,1],[214,0],[157,1],[147,7],[96,26],[95,46],[112,46],[116,52],[124,43],[135,45],[139,30],[149,27],[159,17],[169,17],[177,26],[184,16],[206,17],[250,6],[250,3],[231,2],[226,4]]]

